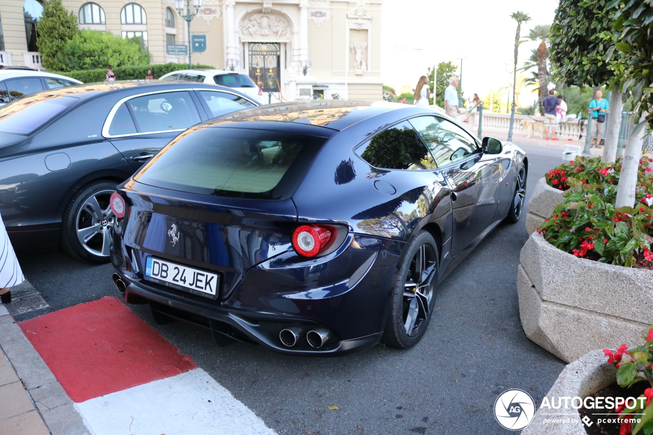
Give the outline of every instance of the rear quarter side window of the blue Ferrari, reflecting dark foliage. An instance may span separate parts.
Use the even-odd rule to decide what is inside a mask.
[[[436,168],[428,148],[406,121],[381,131],[355,152],[370,165],[382,169]]]

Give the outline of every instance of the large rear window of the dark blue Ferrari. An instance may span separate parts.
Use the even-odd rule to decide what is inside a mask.
[[[206,127],[182,133],[135,179],[201,195],[286,199],[325,140],[282,131]]]

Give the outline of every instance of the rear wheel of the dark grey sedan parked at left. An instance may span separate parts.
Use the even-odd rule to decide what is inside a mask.
[[[61,222],[61,248],[89,263],[108,263],[115,217],[109,198],[116,182],[98,180],[82,187],[68,203]]]

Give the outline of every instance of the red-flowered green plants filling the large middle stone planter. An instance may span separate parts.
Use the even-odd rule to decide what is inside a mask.
[[[575,162],[577,168],[579,159],[582,160],[582,157]],[[596,170],[592,169],[587,174],[599,182],[592,182],[590,178],[569,177],[563,180],[569,186],[567,193],[562,195],[564,201],[553,209],[552,216],[537,231],[543,233],[556,248],[577,257],[612,265],[653,269],[653,253],[650,250],[653,242],[653,210],[650,208],[653,196],[649,193],[653,190],[653,178],[648,168],[650,161],[640,161],[635,191],[638,204],[635,208],[616,208],[614,174],[602,174],[600,170],[605,169],[599,169],[597,175]],[[581,174],[588,166],[576,173]],[[556,170],[555,176],[566,172],[560,170],[560,174],[556,174]]]

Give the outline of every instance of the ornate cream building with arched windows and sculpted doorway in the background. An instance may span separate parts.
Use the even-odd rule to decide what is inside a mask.
[[[13,35],[22,31],[13,24],[22,20],[14,15],[24,3],[0,2],[1,22],[12,23],[3,32],[0,63],[2,50],[14,65],[32,58],[25,35]],[[191,33],[206,35],[206,51],[193,53],[193,63],[249,74],[264,92],[273,93],[273,101],[332,94],[381,99],[381,3],[203,0]],[[142,37],[153,63],[187,62],[166,52],[166,44],[187,44],[186,22],[174,0],[63,0],[63,5],[78,15],[80,27]]]

